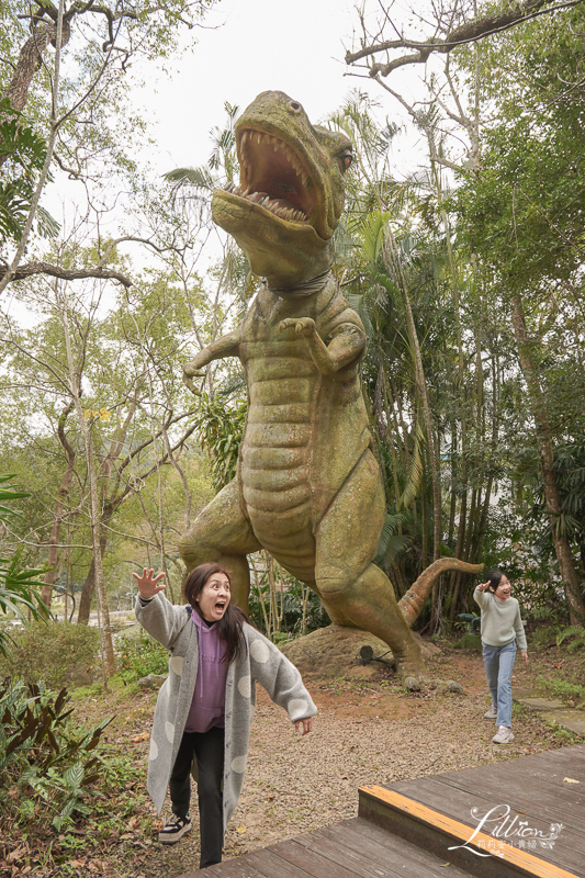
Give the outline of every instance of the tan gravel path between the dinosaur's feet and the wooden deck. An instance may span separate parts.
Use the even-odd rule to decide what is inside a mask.
[[[493,722],[479,656],[441,656],[432,673],[460,679],[464,695],[406,694],[390,679],[306,678],[319,708],[315,729],[295,736],[282,710],[262,690],[250,739],[244,791],[228,826],[225,857],[355,817],[358,787],[537,753],[562,741],[537,714],[515,707],[513,745],[491,743]],[[529,672],[518,669],[524,685]],[[196,807],[194,807],[196,814]],[[173,878],[196,869],[195,828],[180,844],[148,845],[134,878]]]

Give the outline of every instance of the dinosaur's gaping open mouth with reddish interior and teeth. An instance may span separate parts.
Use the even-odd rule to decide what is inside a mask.
[[[226,192],[259,204],[288,222],[310,223],[317,206],[311,175],[289,144],[266,132],[244,128],[237,136],[240,183]]]

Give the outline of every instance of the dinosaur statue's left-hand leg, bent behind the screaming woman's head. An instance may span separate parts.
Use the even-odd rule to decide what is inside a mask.
[[[234,603],[248,612],[250,569],[246,558],[261,549],[250,522],[239,505],[239,488],[234,479],[193,521],[179,540],[179,552],[188,570],[214,561],[224,566],[232,581]]]

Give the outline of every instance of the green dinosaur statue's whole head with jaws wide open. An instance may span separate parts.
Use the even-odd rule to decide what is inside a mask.
[[[280,288],[326,271],[344,207],[351,142],[313,126],[297,101],[265,91],[236,122],[239,187],[216,190],[214,221],[252,271]]]

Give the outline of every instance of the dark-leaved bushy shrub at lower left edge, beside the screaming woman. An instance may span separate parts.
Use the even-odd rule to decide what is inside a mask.
[[[60,831],[87,815],[89,788],[101,774],[97,750],[111,720],[85,730],[67,708],[66,689],[5,680],[0,686],[0,814]]]

